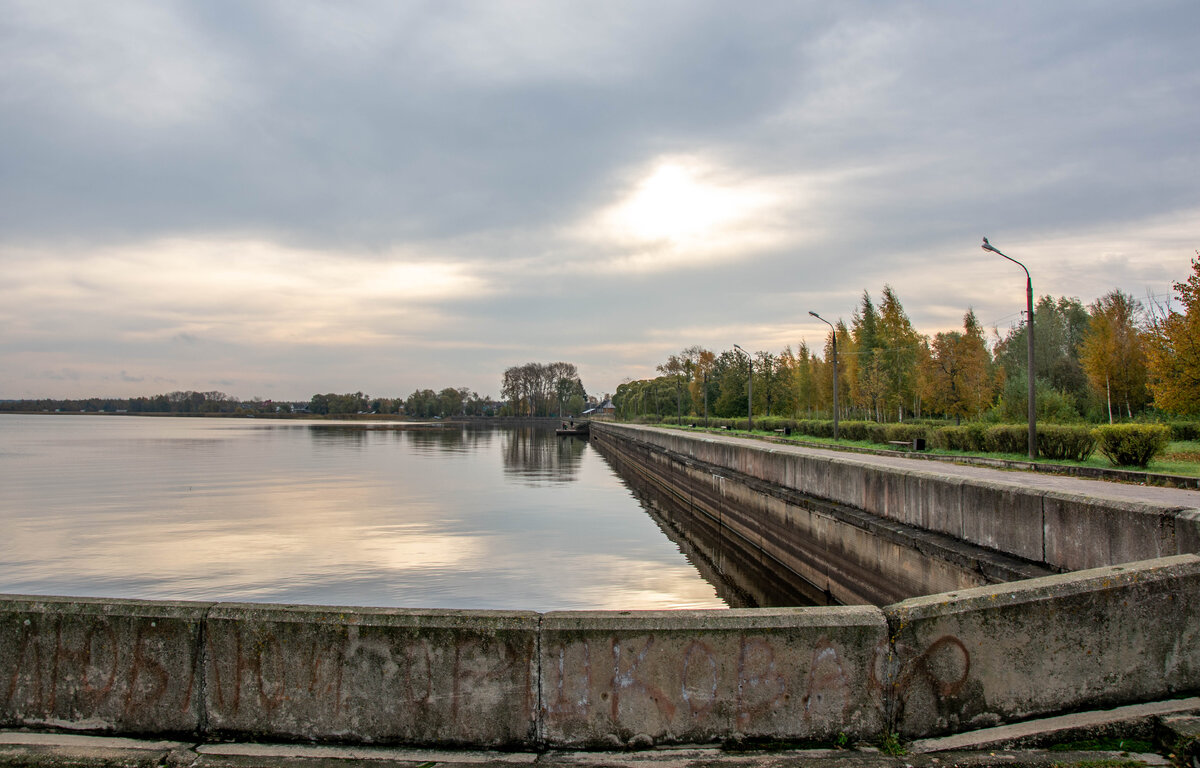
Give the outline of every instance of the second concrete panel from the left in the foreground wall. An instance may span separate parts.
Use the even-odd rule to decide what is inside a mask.
[[[536,613],[218,605],[205,628],[211,733],[534,743]]]

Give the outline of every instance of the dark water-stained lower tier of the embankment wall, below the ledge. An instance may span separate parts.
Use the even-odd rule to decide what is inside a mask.
[[[643,440],[598,431],[592,443],[626,482],[660,491],[650,508],[721,574],[791,586],[806,598],[800,605],[887,605],[1054,572]]]

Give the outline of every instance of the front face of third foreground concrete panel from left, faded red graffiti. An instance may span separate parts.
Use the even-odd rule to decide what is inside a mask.
[[[544,636],[547,733],[571,743],[738,732],[812,737],[869,728],[871,647],[804,647],[769,632]]]

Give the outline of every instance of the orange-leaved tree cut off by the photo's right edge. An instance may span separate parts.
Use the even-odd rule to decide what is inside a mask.
[[[1192,275],[1174,284],[1183,312],[1157,307],[1150,329],[1150,389],[1154,406],[1181,415],[1200,415],[1200,251]]]

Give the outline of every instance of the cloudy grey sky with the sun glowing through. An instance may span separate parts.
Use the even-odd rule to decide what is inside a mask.
[[[0,0],[0,398],[589,394],[1164,301],[1200,4]]]

